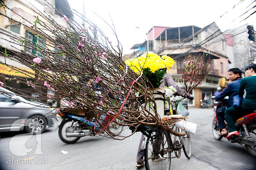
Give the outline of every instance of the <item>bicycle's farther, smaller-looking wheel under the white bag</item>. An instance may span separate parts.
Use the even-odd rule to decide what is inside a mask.
[[[180,129],[181,132],[185,132],[185,136],[180,136],[181,138],[181,144],[183,145],[183,151],[185,153],[185,156],[190,159],[192,155],[192,144],[191,144],[191,138],[190,138],[190,133],[188,133],[185,130]]]

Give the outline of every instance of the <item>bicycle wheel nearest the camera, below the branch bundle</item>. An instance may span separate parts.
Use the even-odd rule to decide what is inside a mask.
[[[171,167],[171,138],[165,130],[157,130],[147,139],[144,151],[146,170],[169,170]]]

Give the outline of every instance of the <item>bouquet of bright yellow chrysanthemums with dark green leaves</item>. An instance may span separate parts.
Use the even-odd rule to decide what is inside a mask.
[[[159,56],[153,53],[125,60],[125,63],[137,74],[143,74],[143,80],[149,81],[149,88],[158,88],[166,74],[166,68],[169,69],[175,62],[167,55]]]

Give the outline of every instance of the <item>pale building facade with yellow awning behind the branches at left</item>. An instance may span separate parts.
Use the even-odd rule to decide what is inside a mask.
[[[12,11],[3,6],[0,8],[0,48],[3,52],[0,54],[0,81],[9,87],[29,91],[31,92],[31,95],[36,95],[37,92],[33,91],[34,88],[19,82],[19,79],[30,80],[29,77],[31,75],[22,73],[23,70],[29,70],[29,68],[15,61],[15,59],[5,59],[4,55],[11,54],[15,56],[17,53],[25,55],[26,51],[31,51],[38,57],[44,57],[38,51],[32,48],[25,48],[24,45],[17,43],[18,38],[26,37],[27,39],[32,40],[34,45],[47,45],[49,40],[43,35],[36,33],[32,26],[33,22],[36,20],[36,16],[38,16],[37,12],[50,16],[52,20],[64,28],[67,28],[68,25],[58,16],[58,11],[61,11],[68,17],[73,17],[73,13],[68,10],[70,7],[67,0],[47,0],[48,4],[44,0],[5,0],[4,2],[8,8],[12,9]],[[55,7],[56,10],[52,10],[49,6]],[[41,22],[44,22],[43,17],[41,17],[40,20]],[[51,33],[49,32],[49,34]],[[22,54],[21,51],[23,51],[24,54]],[[12,68],[6,66],[5,63],[15,66],[20,70],[12,70]],[[32,70],[30,71],[33,72]],[[48,94],[51,93],[51,91],[45,91],[44,93]]]

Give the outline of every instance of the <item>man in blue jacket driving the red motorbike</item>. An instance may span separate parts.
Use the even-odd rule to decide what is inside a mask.
[[[228,105],[218,108],[218,110],[216,111],[218,117],[218,128],[220,130],[219,135],[227,135],[228,133],[224,122],[225,110],[233,106],[233,97],[238,94],[239,83],[242,79],[242,72],[239,68],[231,68],[228,70],[228,72],[228,77],[231,82],[228,83],[227,87],[223,91],[221,91],[220,94],[218,94],[217,96],[212,96],[212,99],[215,99],[217,101],[220,99],[224,99],[226,96],[229,96]]]

